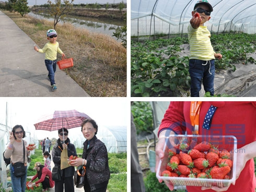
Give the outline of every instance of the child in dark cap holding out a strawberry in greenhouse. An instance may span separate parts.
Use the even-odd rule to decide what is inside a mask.
[[[202,79],[205,92],[210,92],[212,96],[214,95],[214,59],[221,59],[222,54],[213,51],[210,40],[211,33],[204,26],[204,23],[211,19],[212,11],[212,5],[206,0],[197,1],[188,26],[191,97],[199,97]]]

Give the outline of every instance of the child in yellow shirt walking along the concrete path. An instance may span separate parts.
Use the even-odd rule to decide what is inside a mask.
[[[48,79],[51,82],[52,91],[55,91],[57,89],[54,80],[57,63],[57,53],[62,54],[63,57],[65,56],[65,54],[61,51],[59,47],[59,43],[57,42],[57,32],[54,29],[49,29],[46,32],[46,36],[49,42],[44,45],[43,49],[38,49],[38,47],[34,45],[34,50],[39,53],[45,53],[44,62],[49,72]]]

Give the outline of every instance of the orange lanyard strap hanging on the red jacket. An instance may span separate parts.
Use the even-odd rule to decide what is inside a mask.
[[[190,103],[190,121],[193,126],[193,135],[199,134],[199,115],[202,101],[191,101]]]

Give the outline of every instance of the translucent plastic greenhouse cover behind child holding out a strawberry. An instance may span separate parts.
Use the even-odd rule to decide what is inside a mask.
[[[196,2],[197,0],[131,0],[131,35],[149,35],[153,31],[187,33]],[[256,1],[209,0],[208,2],[212,5],[213,12],[211,19],[205,25],[212,32],[230,30],[256,32]]]

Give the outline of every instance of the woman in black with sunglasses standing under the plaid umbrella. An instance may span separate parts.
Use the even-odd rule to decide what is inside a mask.
[[[63,149],[67,149],[67,155],[77,156],[75,146],[70,142],[68,136],[68,130],[66,128],[61,128],[58,130],[59,139],[57,143],[52,148],[52,160],[55,166],[61,166],[61,152]],[[75,168],[73,166],[68,166],[61,170],[61,180],[55,181],[55,192],[65,191],[74,192],[74,176]]]

